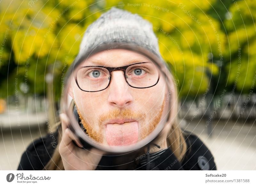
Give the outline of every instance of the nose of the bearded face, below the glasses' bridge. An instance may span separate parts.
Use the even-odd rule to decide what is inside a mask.
[[[132,104],[133,97],[129,92],[129,85],[124,79],[123,71],[113,71],[108,87],[108,103],[117,107],[127,107]]]

